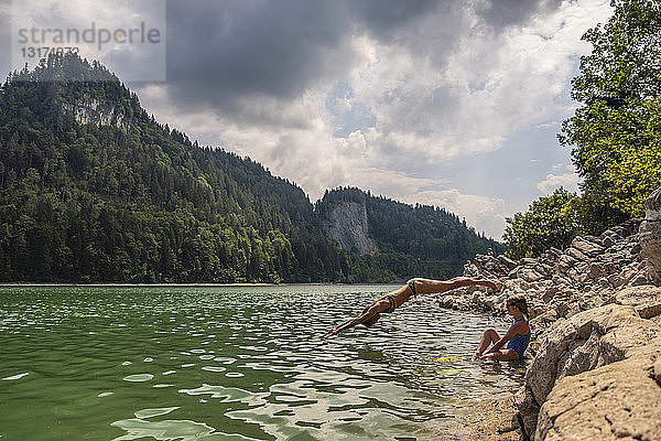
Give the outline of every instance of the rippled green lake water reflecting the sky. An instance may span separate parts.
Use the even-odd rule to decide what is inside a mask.
[[[393,288],[1,287],[0,440],[455,440],[524,366],[431,298],[321,338]]]

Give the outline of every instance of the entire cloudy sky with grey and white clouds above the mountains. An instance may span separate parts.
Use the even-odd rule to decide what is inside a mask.
[[[30,1],[42,14],[71,4]],[[3,76],[10,23],[30,1],[0,0]],[[127,20],[127,8],[165,20],[165,80],[128,82],[147,110],[311,201],[353,185],[500,238],[507,216],[577,190],[555,135],[589,51],[581,36],[608,20],[609,0],[151,1],[96,0],[76,20]],[[121,50],[102,58],[120,78],[152,65]]]

